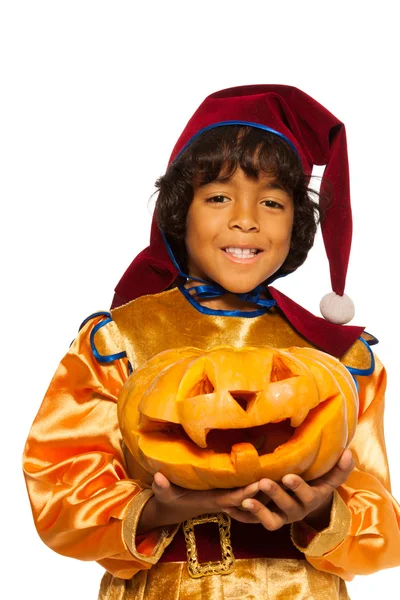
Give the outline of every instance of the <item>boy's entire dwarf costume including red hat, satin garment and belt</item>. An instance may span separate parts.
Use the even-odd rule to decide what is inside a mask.
[[[306,173],[314,164],[327,165],[323,185],[329,180],[333,202],[323,235],[333,299],[340,304],[351,243],[343,124],[295,88],[233,88],[203,102],[171,162],[203,131],[227,124],[283,137]],[[118,284],[111,312],[88,318],[61,362],[24,454],[42,540],[61,554],[104,566],[101,600],[348,598],[345,580],[400,562],[400,508],[390,495],[382,428],[385,372],[370,348],[375,338],[362,327],[339,324],[344,319],[333,314],[331,302],[325,316],[336,323],[314,317],[272,287],[267,303],[250,294],[254,311],[207,308],[185,288],[184,277],[154,221],[150,246]],[[218,287],[214,292],[223,293]],[[344,312],[350,314],[348,306]],[[323,531],[299,522],[269,532],[220,514],[136,533],[152,476],[123,443],[120,390],[132,370],[163,350],[220,345],[315,347],[339,358],[356,379],[360,410],[350,445],[356,468],[335,491]],[[188,531],[195,532],[191,542]],[[188,552],[197,557],[189,567]]]

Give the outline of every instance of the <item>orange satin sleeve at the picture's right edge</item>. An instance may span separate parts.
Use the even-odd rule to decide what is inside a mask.
[[[316,569],[347,581],[400,565],[400,507],[391,496],[383,434],[386,374],[376,357],[372,375],[357,381],[359,420],[350,444],[356,467],[337,490],[343,503],[334,502],[330,526],[306,547],[301,528],[292,528],[295,545]]]

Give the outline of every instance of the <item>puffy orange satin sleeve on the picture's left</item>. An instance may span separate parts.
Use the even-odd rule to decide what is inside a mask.
[[[29,433],[23,468],[43,542],[130,578],[149,569],[170,540],[158,530],[137,536],[135,555],[124,541],[130,505],[144,505],[151,493],[126,472],[117,398],[128,363],[103,365],[93,356],[90,333],[100,320],[82,328],[57,369]]]

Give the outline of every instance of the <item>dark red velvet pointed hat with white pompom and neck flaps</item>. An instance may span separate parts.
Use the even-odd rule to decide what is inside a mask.
[[[315,346],[341,356],[363,328],[344,327],[354,315],[344,294],[350,255],[352,217],[346,131],[343,123],[301,90],[285,85],[250,85],[211,94],[196,110],[178,139],[169,164],[204,131],[222,125],[250,125],[286,139],[298,152],[306,175],[326,165],[321,192],[329,186],[331,203],[322,224],[333,292],[321,301],[324,320],[278,290],[268,288],[293,327]],[[115,288],[113,308],[166,289],[178,276],[155,218],[150,245],[131,263]],[[340,314],[341,313],[341,314]],[[332,321],[332,322],[329,322]]]

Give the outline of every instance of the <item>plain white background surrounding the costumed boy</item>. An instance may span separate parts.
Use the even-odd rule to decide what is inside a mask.
[[[387,449],[400,497],[399,46],[394,2],[3,2],[1,285],[3,585],[7,598],[95,599],[102,569],[39,540],[21,453],[80,322],[107,309],[147,245],[155,179],[204,97],[232,85],[300,87],[347,126],[354,237],[347,292],[389,371]],[[318,313],[320,242],[277,284]],[[4,565],[4,556],[6,565]],[[351,597],[398,598],[399,569]],[[17,586],[17,589],[15,589]],[[20,586],[20,589],[18,589]]]

